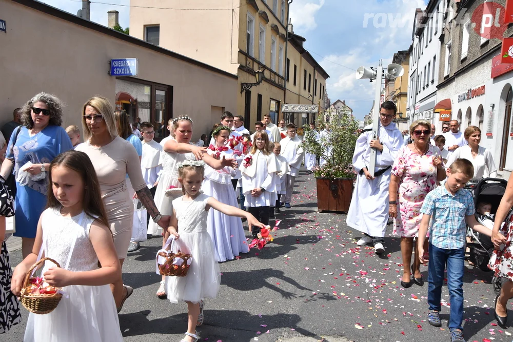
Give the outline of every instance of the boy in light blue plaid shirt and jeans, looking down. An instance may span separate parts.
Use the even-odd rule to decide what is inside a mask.
[[[419,229],[418,254],[424,259],[424,240],[431,215],[433,224],[429,228],[429,276],[427,303],[428,321],[441,327],[440,299],[444,285],[444,271],[447,267],[447,287],[450,295],[449,330],[452,342],[465,342],[463,323],[463,271],[465,261],[465,223],[473,230],[491,236],[491,230],[478,224],[474,216],[472,194],[463,186],[473,177],[474,168],[467,159],[456,159],[447,169],[447,181],[427,194],[422,205],[422,222]]]

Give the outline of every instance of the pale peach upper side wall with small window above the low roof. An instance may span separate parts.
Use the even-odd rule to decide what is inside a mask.
[[[159,25],[161,47],[237,73],[239,0],[130,0],[130,5],[146,7],[130,8],[130,35],[144,41],[146,27]]]

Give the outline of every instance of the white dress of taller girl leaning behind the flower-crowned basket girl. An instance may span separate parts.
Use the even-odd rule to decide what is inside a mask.
[[[170,140],[174,140],[171,138]],[[176,141],[176,140],[175,140]],[[191,144],[193,145],[193,144]],[[155,206],[159,209],[162,215],[171,215],[173,213],[173,205],[172,200],[174,198],[166,196],[166,190],[170,186],[174,186],[176,188],[182,188],[180,182],[178,182],[178,168],[176,164],[184,162],[186,159],[194,160],[194,154],[192,153],[169,153],[163,151],[161,153],[162,156],[162,169],[163,173],[159,180],[159,184],[155,190]],[[176,191],[177,196],[182,196],[181,191]],[[151,235],[161,235],[162,228],[153,222],[150,219],[150,223],[148,224],[148,234]]]

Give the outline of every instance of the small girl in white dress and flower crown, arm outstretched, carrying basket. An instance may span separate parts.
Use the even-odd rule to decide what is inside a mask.
[[[212,239],[207,232],[209,209],[213,208],[229,216],[246,217],[250,228],[264,227],[250,213],[200,193],[204,172],[202,161],[186,160],[179,164],[179,181],[185,195],[173,200],[173,213],[168,228],[169,234],[173,235],[170,238],[175,240],[173,245],[177,245],[183,253],[192,255],[192,263],[185,277],[166,277],[171,303],[185,301],[188,307],[188,327],[181,342],[196,342],[200,339],[196,334],[196,326],[203,324],[204,298],[214,298],[221,283]]]

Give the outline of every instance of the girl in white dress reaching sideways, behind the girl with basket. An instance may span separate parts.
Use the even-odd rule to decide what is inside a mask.
[[[235,166],[236,161],[232,159],[221,158],[214,159],[210,155],[204,153],[207,151],[205,147],[199,147],[191,144],[192,138],[192,119],[188,116],[179,116],[172,121],[171,127],[172,137],[164,144],[164,152],[162,156],[162,175],[155,190],[155,205],[162,215],[171,215],[173,212],[172,200],[182,195],[182,185],[178,181],[178,168],[176,165],[185,160],[204,159],[214,169],[221,169],[225,166]],[[175,189],[171,190],[169,188]],[[168,193],[166,195],[166,192]],[[171,196],[169,196],[171,194]],[[150,220],[148,225],[148,234],[160,235],[162,229],[159,225]],[[169,235],[164,234],[163,246],[165,245]],[[157,290],[157,297],[165,299],[166,292],[164,287],[164,277]]]

